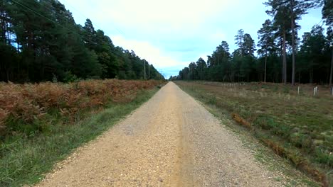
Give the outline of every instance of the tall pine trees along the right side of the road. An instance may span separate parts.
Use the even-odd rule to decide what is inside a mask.
[[[222,41],[207,62],[199,58],[170,79],[209,81],[270,81],[332,85],[333,1],[269,0],[264,3],[272,16],[258,30],[258,44],[238,30],[233,53]],[[298,38],[297,21],[310,8],[322,7],[323,26],[315,25]],[[257,48],[258,47],[258,48]],[[257,55],[255,55],[257,52]]]

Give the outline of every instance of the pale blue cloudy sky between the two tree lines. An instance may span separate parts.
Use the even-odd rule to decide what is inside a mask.
[[[60,0],[75,22],[93,21],[112,42],[145,59],[164,77],[175,76],[200,57],[207,60],[226,40],[231,52],[243,29],[258,42],[257,31],[270,16],[265,0]],[[310,10],[298,23],[302,33],[321,23],[321,10]]]

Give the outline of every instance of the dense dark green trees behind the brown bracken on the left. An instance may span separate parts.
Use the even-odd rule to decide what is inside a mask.
[[[0,60],[0,81],[164,79],[57,0],[0,0]]]

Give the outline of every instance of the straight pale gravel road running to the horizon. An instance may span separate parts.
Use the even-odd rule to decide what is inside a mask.
[[[281,186],[274,175],[169,82],[37,186]]]

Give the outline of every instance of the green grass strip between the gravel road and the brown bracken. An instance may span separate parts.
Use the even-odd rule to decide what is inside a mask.
[[[95,139],[151,98],[158,89],[139,91],[129,103],[110,103],[75,124],[63,124],[55,118],[54,125],[41,134],[11,135],[0,142],[0,186],[22,186],[38,183],[53,165],[77,147]],[[58,122],[57,122],[58,120]]]

